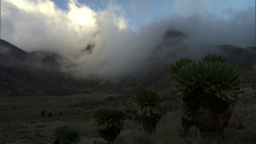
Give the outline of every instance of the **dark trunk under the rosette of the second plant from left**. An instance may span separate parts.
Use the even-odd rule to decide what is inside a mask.
[[[120,134],[121,129],[117,126],[112,126],[104,130],[98,130],[100,137],[108,142],[108,144],[114,143],[116,137]]]

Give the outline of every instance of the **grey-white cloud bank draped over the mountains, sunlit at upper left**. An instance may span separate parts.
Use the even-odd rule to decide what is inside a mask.
[[[1,0],[0,36],[27,52],[60,54],[73,64],[63,63],[64,70],[84,78],[124,76],[150,64],[196,57],[209,51],[200,48],[202,44],[256,45],[255,2],[244,9],[226,8],[221,14],[209,11],[210,0],[200,2],[205,6],[201,11],[194,1],[184,2],[190,7],[181,11],[176,0],[170,16],[140,24],[133,32],[123,6],[113,1],[104,10],[93,10],[69,0],[68,10],[61,10],[50,0]],[[187,34],[188,40],[156,52],[169,29]],[[88,44],[94,44],[90,54],[84,51]]]

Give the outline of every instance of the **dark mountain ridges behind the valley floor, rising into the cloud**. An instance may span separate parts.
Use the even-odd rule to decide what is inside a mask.
[[[167,30],[162,42],[156,44],[155,51],[148,58],[152,60],[148,75],[143,74],[138,78],[126,76],[116,84],[111,83],[112,80],[104,80],[102,85],[99,85],[101,83],[99,81],[78,80],[60,72],[59,60],[63,58],[58,54],[42,51],[28,53],[9,42],[0,40],[0,96],[65,96],[89,93],[84,88],[97,85],[97,88],[102,88],[106,92],[133,94],[134,89],[137,88],[168,84],[164,78],[168,77],[166,74],[173,62],[170,58],[177,56],[172,48],[188,38],[189,36],[182,32]],[[88,44],[82,52],[90,54],[94,46]],[[255,46],[239,48],[228,44],[207,44],[203,47],[208,49],[208,53],[222,55],[240,70],[252,70],[256,62]],[[164,52],[164,55],[157,55],[160,52]]]

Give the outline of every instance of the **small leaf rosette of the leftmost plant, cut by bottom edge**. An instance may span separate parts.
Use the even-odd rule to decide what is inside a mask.
[[[66,124],[57,126],[52,133],[56,143],[60,144],[77,144],[81,140],[80,132]]]

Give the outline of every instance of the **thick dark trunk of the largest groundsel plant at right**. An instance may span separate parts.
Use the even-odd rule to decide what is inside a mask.
[[[205,144],[220,144],[223,130],[228,125],[232,112],[230,102],[226,102],[214,94],[195,89],[183,98],[192,111],[192,121],[199,128]]]

